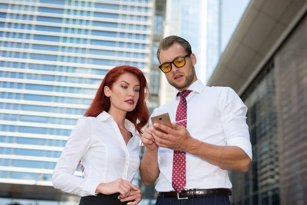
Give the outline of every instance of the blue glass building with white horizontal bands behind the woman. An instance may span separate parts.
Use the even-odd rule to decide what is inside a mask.
[[[1,204],[45,199],[38,195],[52,186],[65,142],[109,69],[149,73],[152,7],[151,0],[0,1],[0,186],[41,186],[27,196],[1,189]]]

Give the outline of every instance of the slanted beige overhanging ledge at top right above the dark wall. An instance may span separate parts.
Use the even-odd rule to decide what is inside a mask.
[[[306,11],[305,0],[252,0],[207,86],[241,95]]]

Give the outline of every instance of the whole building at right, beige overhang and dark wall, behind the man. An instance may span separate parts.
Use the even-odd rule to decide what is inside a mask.
[[[253,159],[229,171],[234,205],[307,200],[306,55],[306,1],[251,1],[208,83],[248,107]]]

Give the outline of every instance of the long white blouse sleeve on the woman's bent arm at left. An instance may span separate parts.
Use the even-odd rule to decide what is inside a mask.
[[[99,182],[75,176],[80,159],[91,147],[92,126],[88,117],[81,117],[72,130],[52,174],[53,187],[79,196],[95,195]]]

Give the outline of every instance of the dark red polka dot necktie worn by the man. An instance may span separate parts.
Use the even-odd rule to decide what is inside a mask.
[[[191,90],[185,90],[179,92],[177,96],[180,96],[179,105],[176,112],[176,121],[180,121],[187,118],[187,100],[186,96],[192,92]],[[187,127],[187,120],[178,122],[178,125]],[[171,176],[171,186],[180,193],[186,186],[186,156],[183,151],[174,151],[173,154],[173,169]]]

